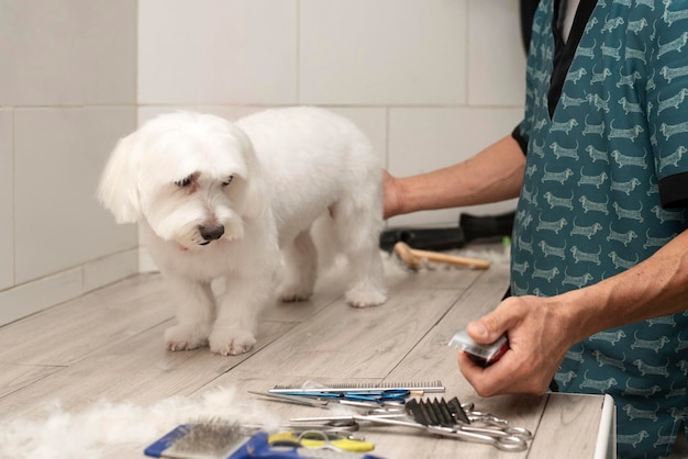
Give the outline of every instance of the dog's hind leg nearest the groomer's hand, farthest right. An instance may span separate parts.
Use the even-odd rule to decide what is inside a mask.
[[[382,210],[375,205],[376,200],[360,199],[366,193],[358,194],[358,199],[343,199],[331,212],[339,245],[353,276],[345,298],[355,307],[376,306],[387,301],[378,247]]]

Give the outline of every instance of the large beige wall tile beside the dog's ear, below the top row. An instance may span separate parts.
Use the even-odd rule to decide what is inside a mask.
[[[136,246],[135,226],[115,225],[96,200],[106,159],[134,120],[134,109],[16,110],[18,283]]]

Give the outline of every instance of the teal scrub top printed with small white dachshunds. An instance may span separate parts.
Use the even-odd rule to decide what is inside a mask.
[[[688,227],[688,1],[597,2],[557,82],[559,8],[542,0],[535,13],[514,133],[526,145],[514,295],[599,282]],[[555,380],[565,392],[611,394],[619,457],[654,458],[669,454],[686,418],[687,368],[681,313],[590,336]]]

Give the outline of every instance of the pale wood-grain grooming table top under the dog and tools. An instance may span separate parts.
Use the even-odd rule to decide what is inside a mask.
[[[593,456],[602,396],[481,399],[457,368],[456,350],[447,343],[467,322],[498,304],[508,286],[506,262],[488,270],[439,267],[418,272],[391,259],[386,266],[389,300],[385,305],[364,310],[346,305],[342,295],[346,269],[335,269],[319,282],[310,301],[275,302],[267,307],[257,345],[242,356],[222,357],[208,348],[165,350],[163,333],[174,323],[174,310],[158,275],[130,278],[0,327],[0,428],[16,419],[43,422],[48,416],[46,404],[55,401],[65,412],[80,413],[102,401],[151,406],[175,396],[193,399],[217,388],[231,388],[246,417],[269,413],[271,422],[288,421],[323,411],[262,401],[248,391],[304,381],[440,380],[446,388],[440,396],[473,402],[476,410],[533,432],[529,450],[503,452],[404,427],[366,428],[363,434],[376,444],[375,455]],[[113,438],[99,446],[96,456],[143,457],[145,446],[146,441]]]

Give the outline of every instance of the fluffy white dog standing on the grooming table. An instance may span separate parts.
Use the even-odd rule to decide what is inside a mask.
[[[307,300],[317,278],[311,227],[332,221],[351,264],[346,300],[386,301],[378,249],[381,167],[349,121],[314,108],[268,110],[230,123],[190,112],[159,115],[121,139],[98,197],[118,223],[140,222],[177,305],[169,349],[210,345],[242,354],[287,267],[284,301]],[[210,282],[225,278],[217,301]]]

